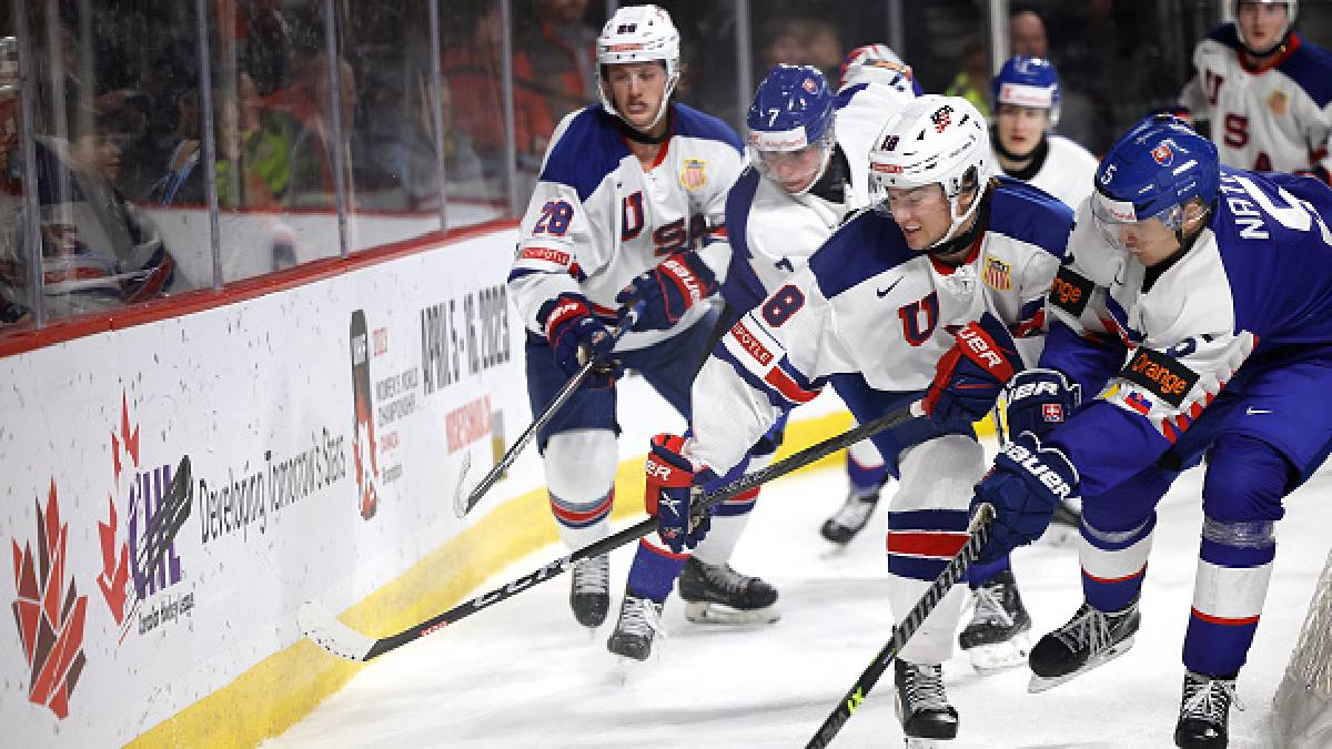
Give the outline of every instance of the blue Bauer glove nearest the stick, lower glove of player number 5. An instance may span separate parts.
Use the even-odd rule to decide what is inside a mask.
[[[972,512],[980,502],[995,508],[990,541],[979,560],[991,562],[1010,550],[1030,544],[1050,526],[1055,505],[1078,496],[1078,469],[1055,446],[1043,446],[1031,432],[1023,432],[995,456],[994,468],[976,484]]]

